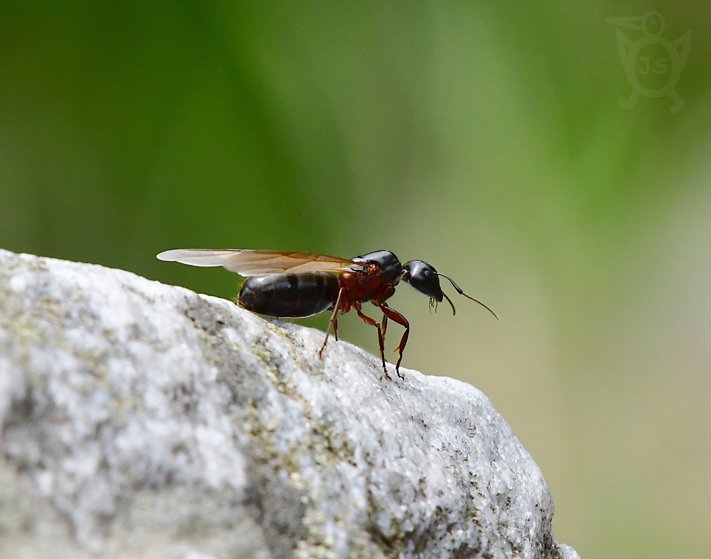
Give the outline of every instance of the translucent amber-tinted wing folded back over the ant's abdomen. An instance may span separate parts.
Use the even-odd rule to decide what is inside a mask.
[[[340,273],[363,270],[362,264],[348,258],[282,250],[176,248],[161,252],[156,258],[191,266],[223,266],[245,277],[284,272]]]

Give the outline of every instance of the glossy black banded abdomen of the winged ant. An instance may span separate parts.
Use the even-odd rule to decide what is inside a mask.
[[[240,289],[237,304],[267,316],[299,318],[324,312],[336,303],[338,275],[293,272],[252,276]]]

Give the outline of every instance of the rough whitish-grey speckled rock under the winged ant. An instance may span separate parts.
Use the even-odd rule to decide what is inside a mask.
[[[0,557],[578,557],[486,396],[323,335],[0,250]]]

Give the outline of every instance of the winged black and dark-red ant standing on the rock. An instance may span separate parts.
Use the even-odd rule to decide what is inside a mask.
[[[159,260],[182,262],[191,266],[223,266],[230,272],[246,277],[237,304],[248,311],[282,318],[301,318],[331,311],[331,320],[328,321],[326,339],[319,350],[319,357],[326,348],[331,329],[338,341],[338,313],[346,314],[351,308],[355,309],[365,324],[378,329],[380,358],[388,380],[392,379],[385,368],[387,319],[405,328],[400,345],[395,348],[395,351],[400,352],[395,365],[395,372],[400,378],[404,378],[400,375],[402,351],[410,335],[410,323],[405,316],[386,303],[401,280],[427,295],[430,307],[436,309],[442,298],[447,299],[454,315],[454,303],[439,285],[439,277],[444,277],[457,293],[479,303],[498,320],[496,313],[486,304],[464,293],[450,277],[440,274],[432,265],[422,260],[400,264],[397,256],[389,250],[376,250],[348,259],[313,252],[177,248],[161,252],[157,257]],[[383,312],[383,321],[375,321],[363,314],[363,303],[368,301]]]

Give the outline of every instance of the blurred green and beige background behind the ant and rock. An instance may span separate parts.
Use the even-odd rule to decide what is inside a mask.
[[[675,114],[618,104],[605,20],[650,11],[663,38],[692,32]],[[545,474],[559,541],[707,557],[710,68],[707,1],[4,0],[0,247],[230,298],[235,275],[156,253],[431,262],[501,322],[401,287],[403,364],[491,398]],[[357,316],[339,324],[376,350]]]

